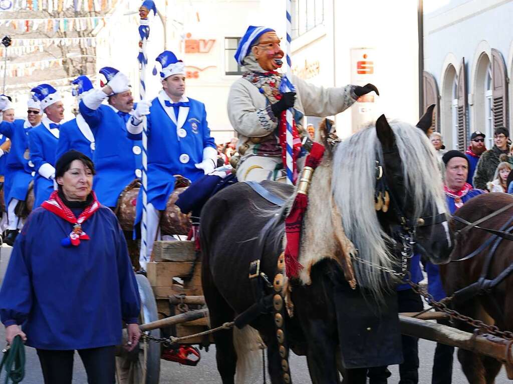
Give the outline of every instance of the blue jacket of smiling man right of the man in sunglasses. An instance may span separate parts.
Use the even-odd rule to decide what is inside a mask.
[[[34,208],[39,207],[43,201],[50,197],[53,192],[53,180],[44,177],[40,169],[45,164],[55,168],[55,150],[57,149],[58,137],[50,132],[47,122],[43,122],[29,133],[30,161],[34,164]],[[49,166],[45,166],[48,169]]]

